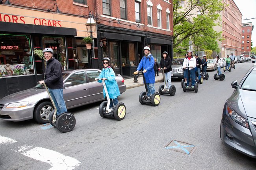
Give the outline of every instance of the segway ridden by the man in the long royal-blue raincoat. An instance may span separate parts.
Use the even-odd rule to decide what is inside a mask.
[[[144,73],[143,71],[139,71],[139,72],[142,73],[143,81],[146,89],[146,91],[143,91],[139,94],[139,103],[141,103],[141,105],[147,104],[147,105],[158,106],[161,100],[160,94],[158,92],[155,92],[151,96],[148,96],[148,88],[146,85]],[[137,72],[134,72],[134,74],[137,74]]]

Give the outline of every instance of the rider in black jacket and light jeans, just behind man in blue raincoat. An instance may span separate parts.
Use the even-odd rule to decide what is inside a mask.
[[[168,89],[163,89],[163,91],[169,91],[171,87],[171,71],[172,71],[172,61],[171,58],[168,56],[168,52],[164,51],[162,54],[163,58],[160,60],[159,68],[163,68],[165,73],[165,80],[168,82]]]

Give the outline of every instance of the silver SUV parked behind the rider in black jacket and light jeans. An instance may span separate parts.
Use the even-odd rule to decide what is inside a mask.
[[[176,58],[172,61],[172,78],[183,79],[184,78],[184,71],[183,71],[183,61],[184,58]]]

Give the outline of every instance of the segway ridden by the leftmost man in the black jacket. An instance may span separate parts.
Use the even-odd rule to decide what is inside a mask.
[[[73,128],[76,125],[76,118],[74,116],[74,114],[70,113],[70,112],[64,112],[62,114],[60,114],[59,116],[57,116],[57,109],[56,106],[54,104],[54,101],[52,99],[52,96],[48,90],[48,87],[45,85],[45,89],[50,97],[50,100],[52,101],[52,105],[54,107],[54,110],[52,112],[50,112],[49,114],[49,122],[52,126],[56,127],[59,131],[66,133],[66,132],[70,132],[73,130]]]

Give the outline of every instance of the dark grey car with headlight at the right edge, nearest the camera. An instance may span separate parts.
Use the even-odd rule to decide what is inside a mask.
[[[256,158],[256,66],[245,74],[224,104],[220,137],[224,145]]]

